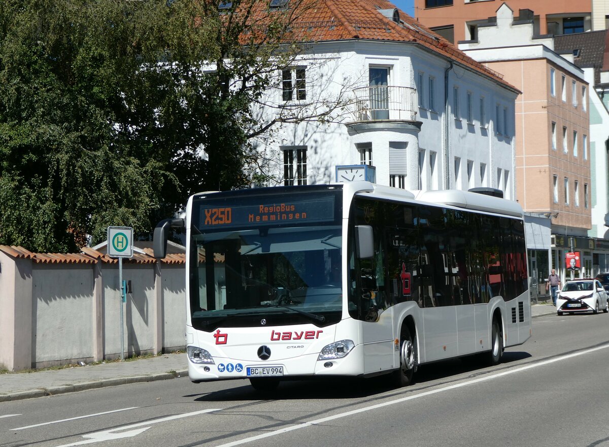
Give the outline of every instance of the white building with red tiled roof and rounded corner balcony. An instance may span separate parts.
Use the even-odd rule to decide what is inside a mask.
[[[272,143],[259,142],[261,158],[276,160],[278,183],[344,181],[336,166],[365,164],[379,184],[494,187],[515,197],[519,90],[501,74],[387,1],[320,0],[291,29],[305,51],[278,73],[280,87],[268,92],[260,116],[319,112],[333,101],[345,107],[284,124]]]

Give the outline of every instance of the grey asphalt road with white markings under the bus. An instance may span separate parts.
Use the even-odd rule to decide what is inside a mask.
[[[608,365],[609,315],[544,316],[497,367],[439,362],[401,389],[174,379],[3,402],[0,447],[609,446]]]

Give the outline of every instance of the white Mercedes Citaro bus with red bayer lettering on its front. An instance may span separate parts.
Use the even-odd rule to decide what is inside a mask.
[[[171,224],[155,229],[164,257]],[[186,207],[193,382],[256,389],[388,374],[530,337],[523,210],[467,191],[369,182],[199,193]]]

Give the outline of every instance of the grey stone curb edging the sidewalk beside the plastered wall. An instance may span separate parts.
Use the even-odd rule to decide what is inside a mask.
[[[169,379],[178,379],[180,377],[188,377],[188,370],[181,370],[172,373],[148,374],[144,376],[121,377],[119,379],[100,379],[99,381],[78,382],[72,385],[60,385],[58,387],[51,388],[35,388],[33,390],[0,394],[0,402],[12,402],[30,398],[43,398],[46,396],[55,396],[77,391],[94,390],[95,388],[114,387],[116,385],[166,381]]]

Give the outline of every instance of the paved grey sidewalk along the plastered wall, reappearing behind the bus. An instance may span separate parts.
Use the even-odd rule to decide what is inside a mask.
[[[536,318],[555,314],[556,309],[552,304],[535,304],[531,306],[531,313],[532,318]],[[185,353],[64,370],[0,374],[0,402],[185,376],[188,376]]]

